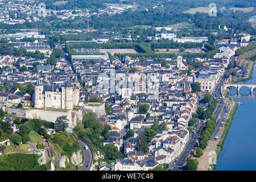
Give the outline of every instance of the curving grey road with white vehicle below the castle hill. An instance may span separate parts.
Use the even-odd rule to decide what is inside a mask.
[[[90,166],[92,166],[92,160],[93,160],[92,150],[90,149],[88,144],[86,144],[85,142],[82,142],[82,140],[79,140],[79,145],[82,149],[82,152],[84,152],[84,164],[82,165],[81,171],[89,171]],[[85,146],[88,146],[89,149],[85,150]]]

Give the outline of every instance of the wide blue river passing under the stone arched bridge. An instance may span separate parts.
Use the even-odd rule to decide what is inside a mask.
[[[243,81],[256,84],[256,64],[253,77]],[[217,160],[215,170],[256,170],[256,90],[250,95],[249,88],[241,88],[240,96],[231,88],[233,100],[243,102],[234,115],[232,125]]]

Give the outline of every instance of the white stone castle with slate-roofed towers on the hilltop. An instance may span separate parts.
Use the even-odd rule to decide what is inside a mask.
[[[33,95],[34,107],[39,109],[73,110],[79,105],[79,82],[68,80],[64,85],[43,83],[40,78],[36,81]]]

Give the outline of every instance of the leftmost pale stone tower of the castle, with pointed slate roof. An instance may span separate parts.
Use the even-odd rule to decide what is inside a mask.
[[[40,78],[36,81],[35,90],[34,90],[34,107],[35,108],[44,108],[44,97],[43,97],[44,86]]]

